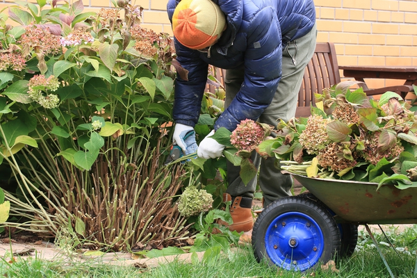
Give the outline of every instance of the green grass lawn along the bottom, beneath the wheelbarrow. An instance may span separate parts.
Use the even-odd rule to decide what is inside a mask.
[[[375,238],[382,248],[386,261],[395,277],[413,277],[416,266],[417,225],[405,231],[386,231],[392,247],[380,233]],[[359,232],[357,250],[347,259],[336,263],[336,271],[325,270],[321,265],[304,273],[279,270],[267,263],[257,263],[250,245],[227,250],[222,254],[206,256],[203,261],[192,263],[173,261],[156,268],[141,269],[105,263],[68,263],[66,261],[42,261],[40,259],[0,261],[0,275],[4,277],[390,277],[368,234]]]

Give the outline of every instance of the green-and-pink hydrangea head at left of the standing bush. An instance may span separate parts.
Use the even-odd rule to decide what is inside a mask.
[[[44,75],[35,75],[29,80],[28,88],[29,97],[42,107],[51,109],[58,106],[58,96],[47,93],[54,92],[59,88],[59,81],[55,76],[51,75],[45,78]]]

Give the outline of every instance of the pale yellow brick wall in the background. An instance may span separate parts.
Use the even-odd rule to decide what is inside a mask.
[[[35,0],[30,0],[35,2]],[[172,35],[167,0],[132,0],[142,8],[142,27]],[[12,1],[4,1],[0,8]],[[110,0],[83,0],[86,11]],[[314,0],[318,42],[334,42],[339,65],[416,65],[417,0]],[[370,80],[370,88],[402,81]]]

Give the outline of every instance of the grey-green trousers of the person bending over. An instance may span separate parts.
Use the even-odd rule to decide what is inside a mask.
[[[282,77],[277,92],[268,108],[265,109],[259,122],[277,126],[278,119],[290,120],[295,116],[297,108],[298,91],[302,84],[304,70],[313,57],[316,49],[316,26],[304,35],[292,42],[288,42],[282,51]],[[229,106],[240,90],[244,78],[243,66],[233,70],[227,70],[224,79],[226,87],[225,106]],[[273,136],[273,134],[272,134]],[[259,169],[259,186],[263,192],[264,204],[266,207],[280,197],[291,195],[293,179],[290,175],[283,175],[275,167],[275,158],[261,158],[253,152],[252,161]],[[255,177],[246,186],[239,176],[240,167],[227,163],[227,181],[229,186],[226,192],[231,196],[254,197],[256,190]]]

